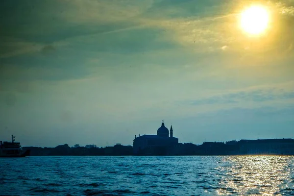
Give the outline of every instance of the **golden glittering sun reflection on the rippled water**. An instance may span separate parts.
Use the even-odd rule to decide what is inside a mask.
[[[235,190],[243,195],[281,195],[280,190],[294,191],[288,179],[293,175],[288,156],[230,156],[223,161],[230,167],[219,167],[225,173],[218,195],[228,195]],[[292,186],[292,187],[289,187]],[[230,192],[232,193],[232,192]]]

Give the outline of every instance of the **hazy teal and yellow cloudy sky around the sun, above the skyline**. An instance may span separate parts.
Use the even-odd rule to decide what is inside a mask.
[[[270,13],[250,35],[240,13]],[[294,0],[1,0],[0,139],[294,138]]]

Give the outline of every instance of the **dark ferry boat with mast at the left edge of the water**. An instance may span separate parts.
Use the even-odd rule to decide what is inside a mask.
[[[12,135],[12,142],[0,141],[0,157],[25,157],[29,156],[30,150],[23,151],[21,143],[15,142]]]

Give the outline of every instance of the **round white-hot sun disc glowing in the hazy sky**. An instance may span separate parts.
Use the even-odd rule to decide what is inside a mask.
[[[269,13],[262,6],[251,6],[241,13],[241,27],[249,34],[258,35],[269,25]]]

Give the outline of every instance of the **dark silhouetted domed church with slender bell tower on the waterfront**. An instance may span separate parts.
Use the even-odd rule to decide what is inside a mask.
[[[169,147],[177,145],[178,138],[173,137],[171,129],[165,127],[162,121],[161,127],[157,129],[157,135],[135,136],[133,151],[135,155],[165,155]]]

